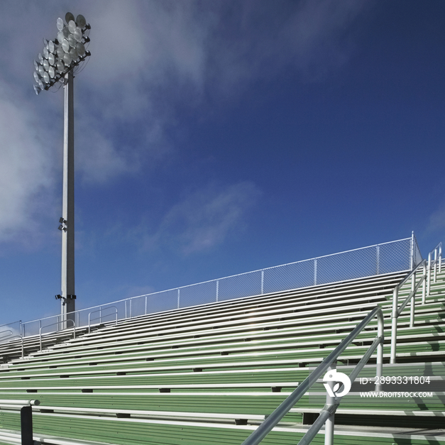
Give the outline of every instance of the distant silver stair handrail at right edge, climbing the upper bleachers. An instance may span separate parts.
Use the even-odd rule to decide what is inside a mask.
[[[432,262],[432,253],[434,252],[434,261]],[[439,252],[439,255],[438,255]],[[422,260],[416,268],[414,268],[407,276],[394,288],[392,291],[392,324],[391,324],[391,356],[390,363],[395,363],[396,361],[396,350],[397,350],[397,319],[402,314],[405,306],[411,301],[411,311],[410,311],[410,327],[414,326],[414,311],[416,304],[416,292],[420,285],[423,283],[422,289],[422,304],[425,304],[426,297],[429,297],[431,290],[431,270],[434,268],[434,282],[436,282],[436,265],[439,267],[439,273],[441,272],[442,263],[442,243],[440,242],[431,252],[428,254],[428,261]],[[420,277],[419,282],[416,284],[416,274],[422,268],[423,273]],[[399,291],[403,285],[405,285],[411,278],[411,292],[405,298],[404,302],[398,306]]]

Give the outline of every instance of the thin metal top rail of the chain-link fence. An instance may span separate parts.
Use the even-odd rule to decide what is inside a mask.
[[[351,252],[356,252],[356,251],[364,251],[366,249],[377,248],[377,247],[380,247],[380,246],[385,246],[385,245],[393,244],[393,243],[400,243],[402,241],[412,241],[412,238],[411,237],[410,238],[401,238],[401,239],[398,239],[398,240],[395,240],[395,241],[388,241],[388,242],[385,242],[385,243],[373,244],[372,246],[360,247],[360,248],[351,249],[351,250],[348,250],[348,251],[337,252],[337,253],[329,253],[329,255],[317,256],[317,257],[314,257],[314,258],[309,258],[307,260],[299,260],[299,261],[294,261],[292,263],[285,263],[285,264],[271,266],[269,268],[251,270],[249,272],[238,273],[238,274],[235,274],[235,275],[228,275],[228,276],[222,277],[222,278],[214,278],[212,280],[197,282],[197,283],[194,283],[192,285],[184,285],[184,286],[172,287],[171,289],[159,290],[159,291],[156,291],[156,292],[150,292],[148,294],[136,295],[134,297],[126,297],[126,298],[123,298],[121,300],[115,300],[115,301],[109,302],[109,303],[97,304],[96,306],[86,307],[84,309],[78,309],[77,311],[73,312],[73,314],[79,314],[80,312],[91,311],[92,309],[96,309],[96,308],[98,308],[99,310],[101,308],[105,309],[105,307],[109,307],[110,304],[117,304],[117,303],[127,302],[128,300],[133,300],[133,299],[136,299],[136,298],[149,297],[149,296],[153,296],[153,295],[162,294],[164,292],[180,291],[181,289],[187,289],[187,288],[193,287],[193,286],[204,285],[204,284],[211,283],[211,282],[217,282],[219,280],[226,280],[226,279],[229,279],[229,278],[241,277],[243,275],[249,275],[249,274],[252,274],[252,273],[260,273],[260,272],[263,272],[265,270],[278,269],[278,268],[282,268],[282,267],[289,266],[289,265],[295,265],[295,264],[299,264],[299,263],[308,263],[308,262],[319,260],[319,259],[322,259],[322,258],[335,257],[335,256],[342,255],[344,253],[351,253]],[[382,274],[382,275],[385,275],[385,274]],[[31,320],[29,322],[23,322],[23,324],[31,324],[31,323],[35,323],[35,322],[41,322],[41,321],[43,321],[45,319],[54,319],[55,317],[61,317],[61,315],[60,314],[50,315],[49,317],[43,317],[43,318],[40,318],[40,319]]]

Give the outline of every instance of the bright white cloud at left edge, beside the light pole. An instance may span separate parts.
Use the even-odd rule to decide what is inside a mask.
[[[0,85],[0,241],[32,244],[38,216],[48,211],[51,201],[53,160],[50,148],[33,131],[32,109],[9,97],[6,82]]]

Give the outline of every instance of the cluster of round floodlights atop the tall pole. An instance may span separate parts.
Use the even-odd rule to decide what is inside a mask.
[[[87,25],[84,16],[75,16],[67,12],[65,21],[57,18],[57,38],[43,39],[43,55],[38,55],[38,62],[34,60],[35,94],[43,89],[50,89],[57,82],[65,83],[65,75],[91,53],[85,49],[89,43],[88,33],[91,26]]]

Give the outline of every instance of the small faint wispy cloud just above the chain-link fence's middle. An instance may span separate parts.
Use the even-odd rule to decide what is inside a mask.
[[[260,194],[248,181],[228,187],[209,185],[187,194],[165,214],[154,234],[138,227],[143,233],[141,248],[153,251],[167,247],[185,256],[209,251],[246,228]]]

